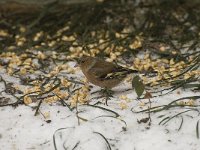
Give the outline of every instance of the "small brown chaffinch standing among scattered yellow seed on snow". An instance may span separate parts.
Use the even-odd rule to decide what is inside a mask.
[[[78,59],[78,66],[89,82],[106,89],[117,86],[128,74],[138,73],[137,70],[124,68],[91,56]]]

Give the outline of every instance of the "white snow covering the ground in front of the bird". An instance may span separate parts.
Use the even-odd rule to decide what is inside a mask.
[[[13,77],[4,75],[8,81]],[[17,81],[15,81],[17,83]],[[0,89],[3,84],[0,84]],[[167,116],[173,116],[186,108],[174,108],[158,113],[151,113],[151,125],[138,123],[138,120],[148,117],[148,113],[135,113],[148,108],[148,100],[137,100],[133,90],[124,92],[131,86],[124,83],[114,89],[115,94],[108,101],[108,106],[100,104],[106,110],[98,107],[80,105],[76,110],[59,103],[53,105],[42,103],[41,113],[48,113],[45,118],[41,114],[34,116],[35,110],[30,106],[19,105],[0,107],[0,149],[1,150],[198,150],[199,139],[196,136],[196,124],[200,119],[197,111],[182,115],[183,124],[180,130],[181,117],[176,117],[164,125],[159,122]],[[98,90],[93,87],[92,91]],[[120,95],[127,95],[131,100],[127,109],[121,109]],[[178,89],[170,94],[151,99],[152,106],[166,105],[181,97],[194,96],[189,90]],[[96,94],[95,96],[98,96]],[[93,97],[95,97],[93,96]],[[91,96],[92,98],[92,96]],[[103,101],[91,100],[91,103]],[[196,101],[198,104],[199,101]],[[142,108],[142,109],[141,109]],[[119,117],[116,117],[116,113]],[[164,115],[163,117],[160,117]],[[55,145],[54,141],[55,140]],[[109,142],[109,144],[108,144]]]

